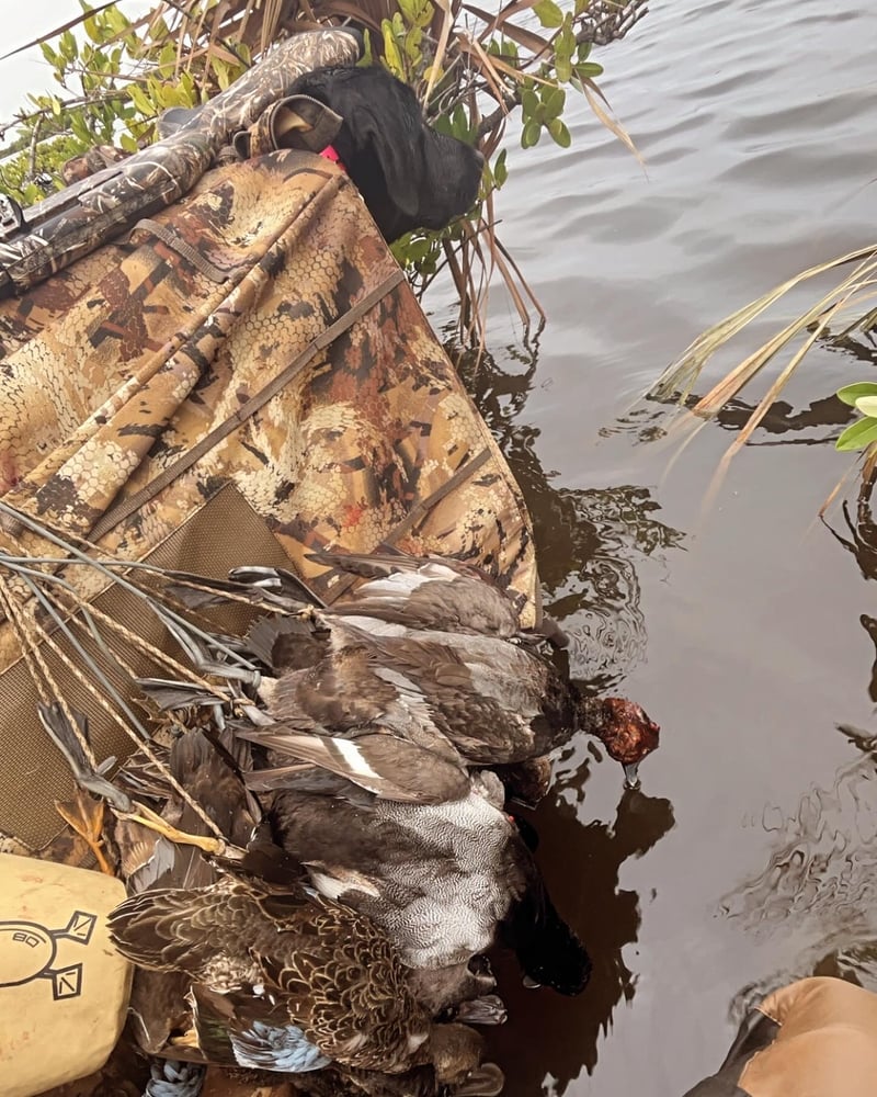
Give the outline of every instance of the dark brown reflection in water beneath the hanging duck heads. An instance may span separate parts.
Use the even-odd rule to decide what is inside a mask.
[[[567,782],[559,788],[559,795],[535,813],[540,837],[537,859],[542,863],[550,858],[544,869],[551,896],[585,942],[594,969],[580,997],[562,998],[547,989],[523,989],[520,979],[500,961],[510,1021],[491,1033],[490,1053],[501,1063],[514,1063],[504,1097],[560,1095],[583,1071],[594,1070],[599,1041],[611,1030],[616,1006],[634,997],[637,983],[623,950],[637,941],[640,902],[636,892],[619,887],[619,871],[628,858],[642,857],[674,825],[669,800],[638,790],[623,793],[611,824],[584,825],[579,795],[566,795],[571,787]],[[520,1024],[522,1014],[525,1025]],[[522,1031],[533,1054],[521,1054]],[[546,1075],[549,1081],[543,1089]]]

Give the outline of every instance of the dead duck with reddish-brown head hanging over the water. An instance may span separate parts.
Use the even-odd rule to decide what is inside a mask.
[[[638,704],[588,697],[525,646],[401,625],[376,635],[368,619],[312,612],[327,654],[304,668],[275,666],[280,677],[261,691],[269,716],[291,731],[355,737],[380,730],[481,767],[540,758],[582,731],[605,745],[631,784],[658,746],[658,724]]]

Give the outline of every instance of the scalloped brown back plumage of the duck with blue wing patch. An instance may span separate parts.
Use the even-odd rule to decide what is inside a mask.
[[[135,895],[116,907],[109,927],[128,959],[185,972],[225,996],[248,1028],[257,1009],[275,1025],[282,1003],[284,1024],[346,1065],[403,1070],[429,1038],[429,1019],[386,936],[319,896],[224,878],[208,887]]]

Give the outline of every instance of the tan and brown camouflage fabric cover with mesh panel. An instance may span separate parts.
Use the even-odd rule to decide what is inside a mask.
[[[520,491],[330,161],[280,150],[208,171],[124,238],[0,302],[0,496],[65,538],[213,575],[284,563],[329,599],[342,587],[306,553],[386,541],[482,563],[534,622]],[[8,519],[0,551],[57,554]],[[146,634],[101,575],[64,574]],[[38,633],[38,611],[2,566],[0,592],[19,625],[0,623],[0,832],[34,847],[57,832],[70,776],[22,651],[21,622]],[[45,658],[77,702],[77,675]],[[127,739],[87,711],[99,757],[124,757]]]

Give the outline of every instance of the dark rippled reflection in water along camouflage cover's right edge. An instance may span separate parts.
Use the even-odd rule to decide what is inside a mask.
[[[643,658],[637,562],[682,546],[659,521],[645,487],[556,486],[536,455],[539,430],[520,421],[538,362],[538,339],[506,348],[508,369],[448,347],[469,392],[521,485],[534,524],[545,608],[565,622],[573,671],[608,689]]]

